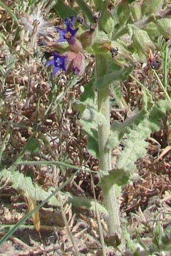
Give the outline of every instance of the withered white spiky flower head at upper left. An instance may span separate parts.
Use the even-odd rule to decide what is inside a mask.
[[[37,36],[48,36],[55,32],[54,26],[51,21],[45,21],[41,13],[41,6],[39,5],[32,15],[22,12],[22,22],[25,30],[29,30],[31,33]]]

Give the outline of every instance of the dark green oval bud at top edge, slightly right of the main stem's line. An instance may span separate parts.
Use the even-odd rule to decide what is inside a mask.
[[[129,17],[130,17],[130,8],[129,8],[129,4],[127,3],[127,1],[123,0],[118,5],[117,16],[118,16],[118,20],[119,20],[121,25],[126,23],[126,21],[129,19]]]

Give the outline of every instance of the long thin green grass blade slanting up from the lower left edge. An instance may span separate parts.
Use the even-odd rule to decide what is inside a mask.
[[[13,228],[11,228],[6,235],[3,236],[3,238],[0,240],[0,246],[7,241],[7,239],[28,219],[31,217],[32,214],[34,214],[34,212],[36,212],[38,209],[40,209],[44,204],[47,203],[47,201],[52,197],[55,196],[55,194],[57,192],[59,192],[61,189],[63,189],[72,179],[73,177],[79,172],[79,170],[76,170],[76,172],[70,177],[68,178],[67,181],[65,181],[58,189],[56,189],[50,196],[48,196],[44,201],[42,201],[42,203],[40,203],[39,205],[37,205],[32,211],[30,211],[28,214],[26,214],[26,216],[24,216],[20,221],[18,221],[18,223],[16,225],[13,226]]]

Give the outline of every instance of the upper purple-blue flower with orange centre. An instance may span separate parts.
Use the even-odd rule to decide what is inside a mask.
[[[60,34],[60,38],[58,39],[58,42],[67,41],[68,43],[72,43],[74,36],[78,31],[78,28],[76,29],[73,28],[73,25],[75,23],[75,18],[71,16],[70,18],[65,18],[63,22],[66,25],[65,29],[56,27],[57,32],[59,32]]]

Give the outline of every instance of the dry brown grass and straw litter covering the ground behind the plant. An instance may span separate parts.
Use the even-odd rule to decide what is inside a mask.
[[[12,1],[6,1],[12,8]],[[17,13],[17,9],[15,8]],[[46,12],[46,11],[45,11]],[[20,29],[16,36],[16,26],[11,16],[0,8],[1,37],[0,37],[0,64],[4,70],[1,75],[0,92],[0,133],[2,143],[8,124],[10,133],[3,152],[2,166],[9,168],[26,145],[29,137],[35,134],[40,143],[38,151],[26,152],[24,160],[62,160],[77,166],[90,167],[98,170],[98,160],[87,149],[87,138],[79,123],[79,113],[72,107],[72,101],[78,99],[81,86],[84,86],[91,77],[94,65],[93,56],[87,58],[87,69],[81,78],[65,76],[59,72],[57,80],[49,77],[42,60],[43,48],[31,46],[32,39]],[[35,39],[34,39],[35,40]],[[35,41],[34,41],[35,44]],[[157,54],[158,62],[161,56]],[[11,63],[9,65],[9,63]],[[158,66],[160,77],[162,70]],[[137,63],[135,77],[146,84],[149,90],[153,87],[155,98],[164,98],[150,69]],[[129,78],[120,84],[124,93],[125,109],[112,108],[112,120],[124,120],[131,111],[141,107],[141,89],[139,85]],[[141,226],[140,219],[132,213],[139,207],[146,216],[146,220],[152,220],[156,211],[165,221],[171,205],[171,162],[169,155],[169,132],[166,125],[170,119],[162,120],[160,131],[151,134],[148,138],[149,146],[144,159],[137,161],[137,172],[140,178],[124,186],[119,198],[121,216],[128,220],[130,232],[135,234],[135,226]],[[170,121],[169,121],[170,122]],[[165,151],[164,151],[165,150]],[[163,153],[164,152],[164,153]],[[114,150],[113,155],[116,152]],[[43,188],[59,186],[66,181],[72,173],[72,169],[54,168],[47,169],[43,165],[20,165],[19,169],[25,175],[32,177],[33,182],[41,184]],[[94,175],[95,192],[98,200],[101,200],[101,189],[98,186],[98,175]],[[55,184],[54,184],[55,183]],[[82,171],[64,191],[75,196],[93,198],[91,175]],[[1,190],[0,220],[3,224],[12,225],[20,220],[27,211],[27,205],[20,195],[10,186],[4,186]],[[100,255],[100,239],[96,214],[88,209],[71,207],[66,205],[64,212],[69,228],[72,232],[74,243],[78,251],[85,255]],[[166,217],[167,216],[167,217]],[[64,226],[62,214],[59,208],[45,206],[40,210],[41,239],[28,220],[25,227],[21,227],[9,241],[0,248],[2,255],[74,255],[73,245]],[[104,234],[106,224],[102,218]],[[4,230],[0,233],[4,235]],[[98,252],[99,251],[99,252]],[[109,255],[114,254],[110,251]]]

